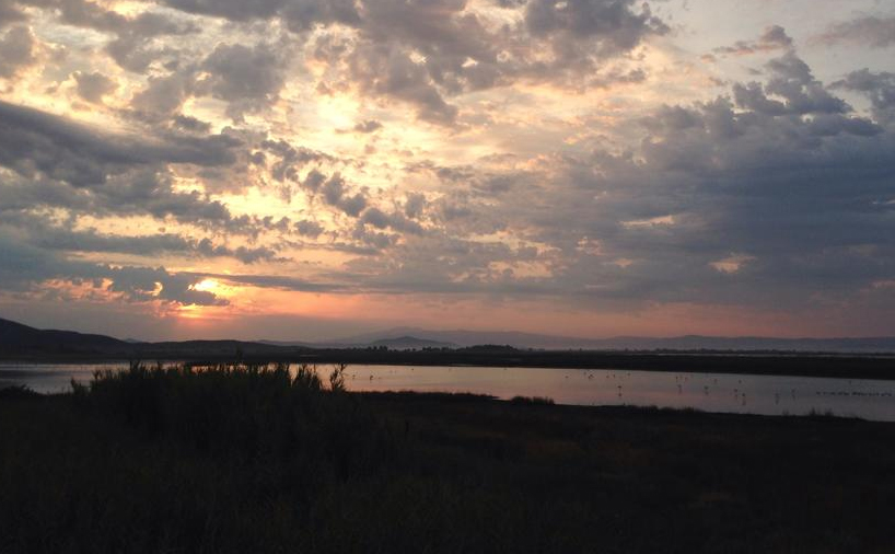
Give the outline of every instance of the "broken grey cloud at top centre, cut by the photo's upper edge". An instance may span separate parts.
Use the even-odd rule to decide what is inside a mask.
[[[330,66],[346,64],[348,82],[362,94],[410,104],[419,119],[454,126],[458,108],[451,97],[470,91],[520,80],[574,89],[642,81],[639,68],[600,70],[669,31],[648,4],[632,0],[535,0],[520,15],[520,24],[496,26],[465,1],[365,2],[352,22],[354,41],[323,34],[314,51]]]

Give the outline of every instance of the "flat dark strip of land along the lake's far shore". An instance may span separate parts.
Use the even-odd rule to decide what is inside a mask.
[[[46,353],[2,355],[0,365],[147,365],[185,362],[246,363],[289,362],[348,366],[446,366],[545,368],[577,370],[636,370],[682,373],[721,373],[744,376],[815,377],[827,379],[873,379],[895,381],[895,355],[802,354],[802,353],[693,353],[693,351],[557,351],[557,350],[291,350],[214,351],[150,350],[131,353]]]

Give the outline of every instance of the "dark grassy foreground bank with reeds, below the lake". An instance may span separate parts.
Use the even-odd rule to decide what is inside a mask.
[[[893,552],[895,426],[133,367],[0,391],[0,552]]]

